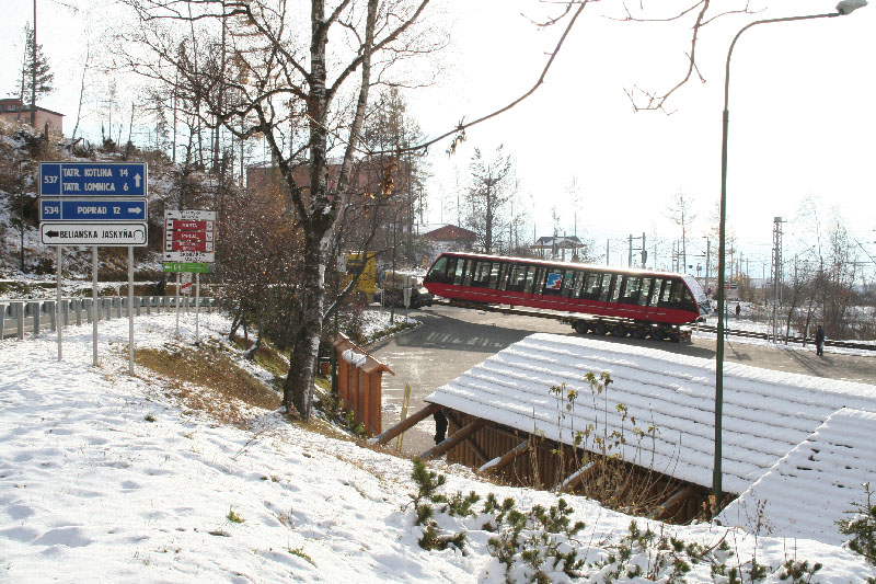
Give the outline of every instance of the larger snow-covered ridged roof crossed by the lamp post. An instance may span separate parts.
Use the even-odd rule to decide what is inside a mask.
[[[624,435],[622,458],[655,471],[712,485],[714,360],[602,340],[533,334],[493,355],[426,401],[527,433],[570,444]],[[608,391],[591,392],[588,371],[608,371]],[[557,396],[552,387],[566,387]],[[568,391],[577,391],[570,408]],[[616,408],[627,409],[626,420]],[[723,488],[741,493],[841,408],[876,412],[876,386],[726,363]],[[635,419],[635,422],[633,422]],[[649,436],[636,439],[634,427]]]

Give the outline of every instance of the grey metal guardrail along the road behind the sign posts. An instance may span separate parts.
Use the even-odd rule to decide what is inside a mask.
[[[0,298],[0,340],[9,337],[24,339],[25,334],[38,335],[44,331],[56,331],[58,321],[64,327],[101,320],[120,319],[128,316],[127,296],[105,296],[97,298],[92,310],[92,298],[61,298],[60,311],[56,310],[57,298],[27,300]],[[216,299],[200,298],[200,307],[207,312],[217,308]],[[180,309],[188,313],[195,310],[195,299],[180,297]],[[159,314],[176,311],[175,296],[135,296],[134,314]]]

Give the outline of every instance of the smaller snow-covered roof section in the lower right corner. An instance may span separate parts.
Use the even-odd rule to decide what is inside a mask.
[[[791,450],[717,517],[723,525],[839,546],[837,522],[866,505],[876,484],[876,414],[840,410]],[[817,502],[817,504],[812,504]]]

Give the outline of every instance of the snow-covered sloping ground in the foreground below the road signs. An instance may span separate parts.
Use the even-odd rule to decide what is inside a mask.
[[[173,316],[140,317],[136,325],[139,346],[176,343]],[[193,327],[183,319],[183,342],[194,339]],[[203,337],[227,330],[221,316],[201,316]],[[90,365],[90,327],[68,329],[62,362],[54,335],[0,341],[0,581],[499,583],[526,576],[520,562],[506,574],[489,554],[494,534],[483,529],[484,515],[438,513],[439,528],[468,531],[464,552],[422,549],[410,460],[308,432],[278,412],[250,409],[247,427],[222,425],[181,406],[165,394],[166,380],[148,370],[127,375],[127,321],[101,324],[99,368]],[[431,468],[446,473],[447,492],[493,492],[522,509],[556,504],[550,493],[484,483],[442,462]],[[558,549],[578,550],[588,563],[612,551],[616,557],[631,517],[566,499],[572,519],[586,527]],[[708,546],[724,538],[735,553],[728,568],[757,553],[769,566],[766,582],[779,582],[779,566],[789,559],[821,562],[812,582],[874,574],[853,552],[812,540],[708,524],[652,527]],[[635,548],[627,565],[655,562],[654,549]],[[615,565],[585,565],[581,581],[602,582]],[[552,581],[569,581],[545,568]],[[643,581],[624,574],[614,581]],[[687,581],[712,582],[710,566],[693,564]]]

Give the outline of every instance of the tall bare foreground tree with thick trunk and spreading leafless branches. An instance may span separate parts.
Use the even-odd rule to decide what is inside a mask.
[[[361,151],[371,89],[391,80],[399,60],[442,45],[442,38],[434,36],[435,26],[424,23],[429,0],[335,0],[331,5],[325,0],[310,0],[306,23],[296,13],[298,5],[287,0],[123,2],[139,16],[137,25],[120,36],[126,61],[165,87],[188,92],[203,127],[217,130],[221,126],[241,142],[262,138],[280,172],[303,234],[298,248],[301,310],[293,317],[297,322],[290,323],[297,332],[284,404],[288,412],[297,410],[308,420],[326,313],[326,255],[350,209],[356,158],[374,154]],[[452,137],[448,148],[452,152],[468,128],[515,107],[537,91],[589,3],[568,2],[560,7],[557,18],[543,23],[564,23],[565,27],[528,91],[486,115],[462,119],[410,150]],[[707,8],[707,0],[705,4]],[[198,39],[198,50],[188,60],[177,55],[182,38]],[[224,55],[221,65],[210,66],[217,55]],[[337,179],[330,184],[331,153],[338,154],[341,162]],[[307,181],[295,172],[301,162],[309,171]],[[485,245],[491,241],[492,236]]]

